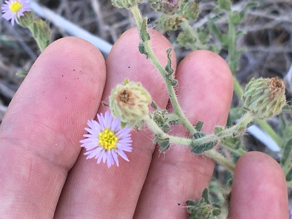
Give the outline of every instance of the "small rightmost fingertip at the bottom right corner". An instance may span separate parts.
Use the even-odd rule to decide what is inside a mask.
[[[248,152],[236,163],[228,218],[288,219],[284,173],[269,155]]]

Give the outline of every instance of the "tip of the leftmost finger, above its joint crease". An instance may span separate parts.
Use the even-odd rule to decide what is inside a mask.
[[[54,41],[32,65],[12,99],[1,137],[21,140],[46,154],[56,153],[46,147],[53,136],[61,145],[71,145],[76,158],[86,120],[96,115],[105,76],[104,58],[90,42],[77,37]],[[67,150],[57,157],[71,159]]]

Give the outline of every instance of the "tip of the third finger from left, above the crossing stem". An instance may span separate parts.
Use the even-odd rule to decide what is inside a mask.
[[[213,132],[215,125],[225,125],[233,78],[224,59],[211,51],[193,51],[178,66],[177,79],[180,103],[184,111],[191,112],[187,114],[191,121],[204,122],[207,133]]]

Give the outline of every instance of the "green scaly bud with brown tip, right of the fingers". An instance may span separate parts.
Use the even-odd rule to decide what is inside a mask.
[[[285,85],[279,78],[252,79],[246,84],[243,108],[256,118],[271,118],[286,104]]]

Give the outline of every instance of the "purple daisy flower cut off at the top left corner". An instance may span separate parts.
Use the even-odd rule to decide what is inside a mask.
[[[17,18],[23,16],[23,12],[30,11],[30,2],[27,0],[9,0],[5,1],[5,3],[1,7],[2,17],[8,21],[11,20],[12,25],[14,25],[14,21],[18,23]]]

